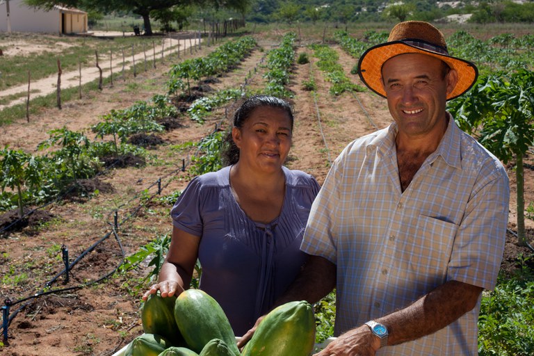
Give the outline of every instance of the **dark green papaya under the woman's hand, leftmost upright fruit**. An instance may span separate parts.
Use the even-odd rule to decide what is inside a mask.
[[[176,296],[163,298],[159,291],[151,294],[141,309],[143,331],[161,335],[173,346],[184,346],[184,337],[175,321],[175,302]]]

